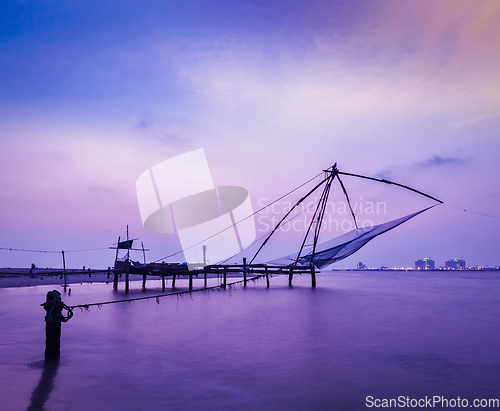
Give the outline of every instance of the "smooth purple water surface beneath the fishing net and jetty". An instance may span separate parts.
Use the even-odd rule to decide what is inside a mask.
[[[367,396],[500,398],[498,273],[321,273],[314,290],[309,276],[265,285],[77,310],[54,368],[41,361],[39,304],[62,289],[0,289],[0,408],[366,410]],[[124,297],[111,284],[71,288],[69,305]]]

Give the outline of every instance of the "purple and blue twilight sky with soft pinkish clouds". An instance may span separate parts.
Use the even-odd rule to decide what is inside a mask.
[[[108,267],[128,225],[149,261],[175,253],[175,233],[144,229],[136,180],[203,148],[254,210],[334,163],[445,203],[332,268],[500,265],[498,1],[2,0],[0,20],[1,248]],[[435,204],[343,182],[360,221]],[[259,237],[304,189],[256,215]],[[330,201],[325,240],[350,224],[338,187]],[[0,267],[32,263],[61,254],[0,250]]]

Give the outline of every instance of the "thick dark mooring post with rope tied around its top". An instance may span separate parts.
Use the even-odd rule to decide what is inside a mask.
[[[57,360],[61,356],[61,323],[68,321],[73,312],[62,302],[61,293],[57,290],[47,293],[46,301],[40,304],[45,316],[45,360]],[[68,310],[68,317],[62,315],[62,310]]]

